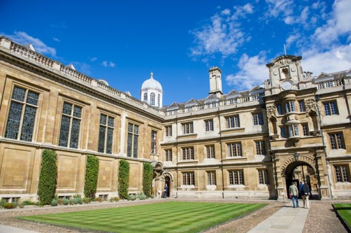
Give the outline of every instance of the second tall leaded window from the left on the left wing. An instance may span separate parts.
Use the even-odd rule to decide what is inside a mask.
[[[81,110],[80,106],[64,102],[58,146],[78,148]]]

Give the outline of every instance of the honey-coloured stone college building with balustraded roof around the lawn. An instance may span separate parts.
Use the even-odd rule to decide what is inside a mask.
[[[126,159],[130,193],[148,161],[155,197],[168,183],[174,198],[280,199],[304,180],[316,198],[350,198],[351,71],[312,77],[301,59],[280,56],[263,87],[228,94],[212,67],[207,97],[162,106],[153,74],[139,100],[0,36],[0,197],[36,199],[52,149],[58,196],[83,192],[93,154],[101,197],[117,195]]]

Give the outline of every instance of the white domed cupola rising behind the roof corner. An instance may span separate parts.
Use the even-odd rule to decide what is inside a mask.
[[[162,86],[154,79],[154,74],[151,72],[150,79],[143,82],[140,90],[140,100],[147,102],[151,106],[162,107]]]

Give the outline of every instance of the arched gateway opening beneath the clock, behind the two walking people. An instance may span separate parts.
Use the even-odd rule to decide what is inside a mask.
[[[309,190],[311,190],[311,197],[318,199],[318,180],[315,169],[305,161],[294,161],[289,164],[284,171],[286,182],[286,193],[288,193],[289,186],[295,182],[299,187],[300,181],[304,181]]]

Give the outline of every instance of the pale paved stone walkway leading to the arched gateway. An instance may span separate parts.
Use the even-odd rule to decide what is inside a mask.
[[[284,207],[258,224],[250,230],[249,233],[302,232],[307,219],[308,210],[309,209],[302,207],[293,208],[293,203],[291,201],[287,202]]]

